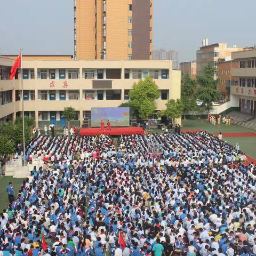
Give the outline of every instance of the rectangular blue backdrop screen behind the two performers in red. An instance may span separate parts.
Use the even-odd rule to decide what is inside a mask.
[[[111,126],[130,126],[130,108],[91,108],[92,127],[100,127],[103,120],[107,126],[108,120]]]

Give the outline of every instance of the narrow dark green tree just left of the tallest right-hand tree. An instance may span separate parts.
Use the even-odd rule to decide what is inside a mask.
[[[196,105],[196,80],[190,78],[188,74],[183,77],[181,85],[181,101],[184,105],[184,119],[186,119],[186,112],[193,111]]]

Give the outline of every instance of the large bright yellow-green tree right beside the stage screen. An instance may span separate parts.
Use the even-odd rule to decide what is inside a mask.
[[[159,98],[158,86],[151,77],[134,83],[129,92],[129,106],[141,119],[148,119],[156,110],[154,101]]]

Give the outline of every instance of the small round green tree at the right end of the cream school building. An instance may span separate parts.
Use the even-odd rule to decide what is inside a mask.
[[[184,105],[181,100],[171,99],[167,101],[165,104],[166,110],[159,112],[159,115],[167,116],[172,120],[172,124],[174,124],[175,119],[180,118],[184,109]]]

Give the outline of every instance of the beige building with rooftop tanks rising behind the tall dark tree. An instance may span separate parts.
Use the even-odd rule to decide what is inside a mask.
[[[231,52],[242,51],[243,48],[236,47],[228,47],[227,43],[217,43],[207,45],[207,43],[200,50],[196,52],[196,74],[201,76],[203,74],[203,70],[205,66],[210,65],[215,68],[214,78],[218,78],[218,64],[219,61],[225,60],[226,58],[231,58]]]

